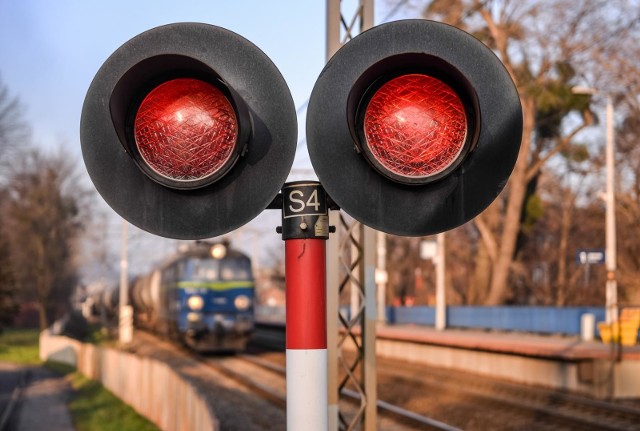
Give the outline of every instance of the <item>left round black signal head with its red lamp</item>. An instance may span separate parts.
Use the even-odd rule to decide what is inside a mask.
[[[289,89],[251,42],[179,23],[142,33],[96,74],[80,127],[89,175],[123,218],[180,239],[240,227],[293,163]]]

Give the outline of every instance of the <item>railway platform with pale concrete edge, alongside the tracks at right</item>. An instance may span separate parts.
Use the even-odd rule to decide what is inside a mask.
[[[393,325],[377,328],[376,351],[381,357],[596,398],[640,397],[640,346],[555,335]]]

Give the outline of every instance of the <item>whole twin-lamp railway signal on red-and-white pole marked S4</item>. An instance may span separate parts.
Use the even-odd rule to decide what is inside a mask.
[[[505,186],[522,112],[482,43],[444,24],[399,21],[354,38],[316,82],[307,141],[321,183],[284,184],[296,129],[289,89],[264,53],[225,29],[182,23],[142,33],[107,59],[87,92],[81,143],[107,203],[157,235],[218,236],[282,204],[295,322],[290,428],[311,417],[326,429],[325,190],[378,230],[454,228]]]

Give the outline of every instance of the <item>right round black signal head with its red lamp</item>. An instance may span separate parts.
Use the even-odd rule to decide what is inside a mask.
[[[327,193],[397,235],[442,232],[479,214],[505,186],[521,137],[520,100],[500,60],[469,34],[425,20],[383,24],[344,45],[307,113]]]

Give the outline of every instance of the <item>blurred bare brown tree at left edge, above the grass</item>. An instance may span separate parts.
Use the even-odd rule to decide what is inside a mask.
[[[76,283],[74,253],[87,196],[74,160],[29,151],[14,163],[6,188],[5,233],[23,298],[34,298],[40,327],[66,311]]]

